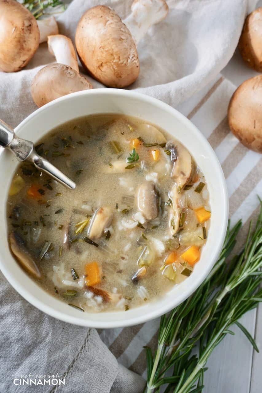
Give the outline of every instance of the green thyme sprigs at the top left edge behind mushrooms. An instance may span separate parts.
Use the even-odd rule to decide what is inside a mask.
[[[54,13],[59,13],[65,11],[65,4],[61,0],[23,0],[23,6],[25,6],[35,17],[35,19],[40,18],[42,15],[51,14],[48,7],[56,8]]]

